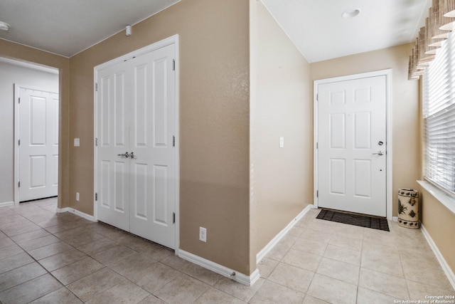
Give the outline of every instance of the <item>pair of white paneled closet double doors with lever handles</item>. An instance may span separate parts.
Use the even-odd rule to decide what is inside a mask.
[[[97,217],[175,247],[174,45],[97,72]]]

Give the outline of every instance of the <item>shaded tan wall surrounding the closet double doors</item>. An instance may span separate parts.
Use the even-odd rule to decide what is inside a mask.
[[[248,1],[182,0],[70,58],[70,206],[93,214],[93,68],[178,34],[180,248],[250,274],[248,15]]]

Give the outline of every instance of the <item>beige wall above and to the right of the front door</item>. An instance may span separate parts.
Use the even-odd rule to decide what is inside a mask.
[[[398,189],[416,188],[420,176],[419,83],[407,80],[412,46],[410,43],[310,65],[311,81],[392,69],[393,216],[397,216]]]

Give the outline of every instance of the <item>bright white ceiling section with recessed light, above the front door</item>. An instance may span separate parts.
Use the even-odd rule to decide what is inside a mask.
[[[414,42],[431,0],[262,0],[307,61]],[[343,11],[360,10],[353,19]]]

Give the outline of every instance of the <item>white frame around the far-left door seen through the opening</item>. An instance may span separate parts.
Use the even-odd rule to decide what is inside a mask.
[[[20,146],[19,146],[19,140],[21,139],[19,136],[19,128],[21,127],[19,123],[19,90],[21,88],[26,88],[29,90],[40,90],[43,92],[50,92],[50,93],[55,93],[51,92],[51,90],[43,90],[40,88],[34,88],[33,85],[21,85],[19,83],[14,83],[14,204],[16,206],[19,205],[21,202],[21,198],[19,197],[19,179],[20,179],[20,174],[19,174],[19,160],[20,160]],[[58,91],[58,166],[60,167],[60,106],[61,106],[61,98],[60,98],[60,88]],[[58,179],[58,186],[60,187],[60,178]],[[57,190],[58,194],[58,190]]]

